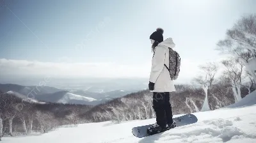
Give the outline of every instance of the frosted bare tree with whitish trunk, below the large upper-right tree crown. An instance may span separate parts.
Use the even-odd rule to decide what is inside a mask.
[[[230,82],[232,86],[232,91],[234,93],[235,102],[239,102],[241,97],[241,86],[242,86],[242,75],[243,75],[243,62],[238,59],[227,59],[221,62],[226,70],[224,72],[225,77]]]

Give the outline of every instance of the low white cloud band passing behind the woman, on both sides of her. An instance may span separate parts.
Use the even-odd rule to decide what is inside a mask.
[[[176,83],[189,83],[200,72],[198,63],[182,59],[179,78]],[[56,78],[148,78],[151,63],[127,65],[116,63],[70,63],[40,62],[13,59],[0,59],[0,77],[51,76]]]

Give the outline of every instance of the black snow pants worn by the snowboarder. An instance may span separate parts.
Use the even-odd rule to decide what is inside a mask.
[[[153,109],[156,112],[156,122],[162,128],[166,124],[172,124],[172,106],[170,103],[170,93],[153,93]]]

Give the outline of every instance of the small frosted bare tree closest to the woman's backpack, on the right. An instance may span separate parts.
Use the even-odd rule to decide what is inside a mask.
[[[208,89],[214,82],[214,77],[218,71],[218,66],[216,63],[207,63],[204,66],[200,66],[200,70],[202,70],[203,73],[193,80],[198,84],[201,84],[205,92],[204,105],[201,111],[211,110],[208,103]]]

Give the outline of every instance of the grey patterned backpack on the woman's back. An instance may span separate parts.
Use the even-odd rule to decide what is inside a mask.
[[[164,66],[170,72],[171,79],[176,80],[180,73],[180,56],[172,48],[169,48],[169,66],[166,66],[166,64]]]

